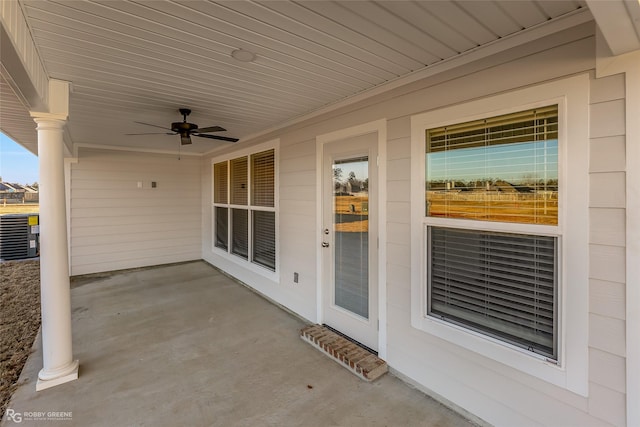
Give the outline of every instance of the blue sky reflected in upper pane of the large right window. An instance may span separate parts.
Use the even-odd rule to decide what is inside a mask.
[[[558,140],[427,153],[427,181],[558,178]]]

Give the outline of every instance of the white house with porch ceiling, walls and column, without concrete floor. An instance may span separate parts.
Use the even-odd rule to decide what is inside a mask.
[[[40,159],[38,388],[77,378],[69,275],[203,259],[487,423],[640,424],[639,17],[3,0],[1,129]],[[359,218],[337,168],[367,179]]]

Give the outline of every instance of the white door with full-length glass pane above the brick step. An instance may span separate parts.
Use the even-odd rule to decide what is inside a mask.
[[[323,148],[324,323],[378,348],[377,134]]]

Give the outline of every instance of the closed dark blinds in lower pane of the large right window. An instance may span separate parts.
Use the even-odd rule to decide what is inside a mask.
[[[556,359],[557,238],[429,227],[428,313]]]

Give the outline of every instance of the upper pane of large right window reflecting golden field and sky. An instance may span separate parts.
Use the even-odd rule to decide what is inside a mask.
[[[427,131],[427,216],[558,224],[557,106]]]

